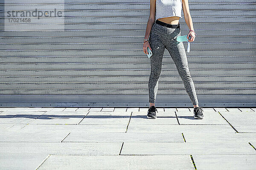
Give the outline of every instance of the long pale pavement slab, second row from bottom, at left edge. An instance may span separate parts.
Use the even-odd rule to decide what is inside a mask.
[[[0,156],[119,155],[122,142],[0,142]]]

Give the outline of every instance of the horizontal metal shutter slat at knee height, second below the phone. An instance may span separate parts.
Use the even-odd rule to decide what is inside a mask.
[[[188,63],[189,68],[255,69],[256,62]],[[1,69],[150,69],[147,63],[0,63]],[[162,68],[176,68],[175,63],[162,63]]]

